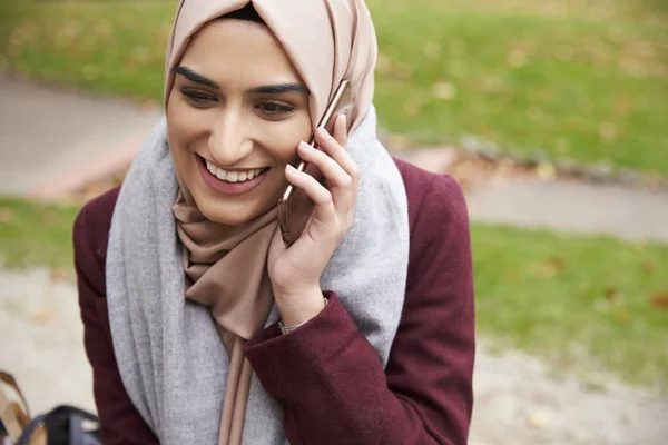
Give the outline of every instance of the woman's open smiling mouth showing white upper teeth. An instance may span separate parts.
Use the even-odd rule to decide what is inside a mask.
[[[198,156],[199,171],[204,181],[225,195],[240,195],[254,189],[265,177],[269,167],[226,170]]]

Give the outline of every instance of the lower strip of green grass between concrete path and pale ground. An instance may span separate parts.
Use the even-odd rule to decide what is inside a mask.
[[[0,257],[71,275],[77,211],[0,199]],[[484,338],[668,390],[668,246],[487,225],[472,239]]]

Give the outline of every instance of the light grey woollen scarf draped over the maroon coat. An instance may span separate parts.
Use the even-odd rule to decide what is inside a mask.
[[[407,202],[401,175],[376,138],[375,111],[351,135],[361,180],[353,228],[321,280],[386,365],[403,308],[409,260]],[[126,390],[164,445],[216,444],[228,356],[207,307],[186,300],[171,206],[178,192],[163,120],[122,185],[109,234],[107,301]],[[278,319],[272,309],[266,326]],[[244,444],[285,443],[279,405],[255,374]]]

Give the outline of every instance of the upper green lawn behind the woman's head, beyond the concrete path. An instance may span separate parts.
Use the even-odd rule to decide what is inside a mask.
[[[668,177],[668,7],[658,0],[367,0],[382,125]],[[7,67],[159,102],[171,1],[43,2]]]

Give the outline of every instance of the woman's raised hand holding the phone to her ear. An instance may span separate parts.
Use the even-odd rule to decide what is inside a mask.
[[[315,131],[322,151],[305,142],[298,147],[299,157],[322,171],[326,188],[292,166],[285,171],[287,180],[315,202],[302,236],[292,246],[285,246],[277,230],[269,247],[269,277],[286,326],[306,322],[323,309],[321,275],[353,225],[360,174],[346,151],[345,119],[345,116],[336,119],[333,137],[322,128]]]

